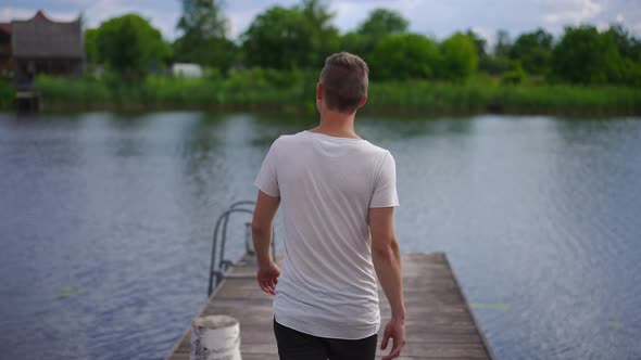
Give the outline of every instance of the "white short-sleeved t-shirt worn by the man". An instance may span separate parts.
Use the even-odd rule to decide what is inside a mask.
[[[376,334],[380,312],[367,222],[370,207],[399,206],[390,152],[306,130],[281,136],[254,184],[280,196],[282,209],[276,321],[320,337]]]

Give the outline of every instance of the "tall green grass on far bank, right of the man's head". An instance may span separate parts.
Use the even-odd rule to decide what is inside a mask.
[[[369,110],[400,112],[641,113],[641,90],[624,87],[499,83],[374,83]]]

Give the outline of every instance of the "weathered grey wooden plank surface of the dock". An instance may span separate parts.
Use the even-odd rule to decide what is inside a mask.
[[[493,359],[491,349],[477,326],[474,314],[442,253],[404,254],[403,284],[406,345],[398,359]],[[251,263],[234,268],[235,274],[255,274]],[[390,311],[379,287],[381,326]],[[273,297],[263,293],[255,279],[226,279],[209,298],[198,316],[228,314],[240,322],[240,351],[243,360],[276,360],[278,352],[272,327]],[[187,360],[190,352],[190,325],[174,345],[167,360]],[[378,350],[377,359],[387,353]]]

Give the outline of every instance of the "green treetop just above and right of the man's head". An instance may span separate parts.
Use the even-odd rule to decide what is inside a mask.
[[[341,48],[344,51],[368,57],[380,40],[390,35],[406,33],[409,26],[407,20],[399,12],[375,9],[355,31],[350,31],[341,38]]]

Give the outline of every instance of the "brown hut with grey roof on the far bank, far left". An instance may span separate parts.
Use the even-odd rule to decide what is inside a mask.
[[[7,50],[7,37],[11,47]],[[30,89],[36,75],[77,76],[85,66],[79,20],[54,22],[41,11],[26,21],[0,24],[0,69],[10,66],[18,90]]]

